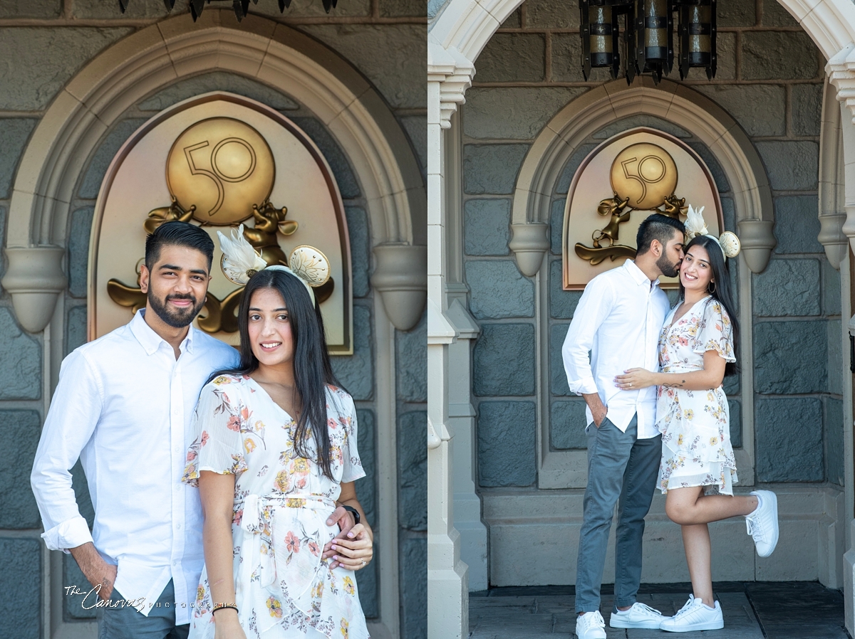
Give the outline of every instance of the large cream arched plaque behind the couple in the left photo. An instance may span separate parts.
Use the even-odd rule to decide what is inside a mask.
[[[215,128],[200,126],[199,123],[211,119],[223,119],[234,130],[218,134]],[[240,132],[241,128],[247,130]],[[235,131],[239,134],[233,135]],[[262,139],[254,137],[252,131]],[[188,141],[188,133],[194,132],[195,136]],[[197,140],[199,134],[202,137]],[[230,141],[231,138],[240,141]],[[263,167],[266,158],[274,163],[272,185],[266,188],[268,183],[262,179],[259,184],[249,184],[251,188],[246,191],[249,179],[266,170]],[[169,176],[168,161],[172,167]],[[174,170],[182,167],[182,162],[187,165],[184,178],[190,180],[183,191],[175,183]],[[191,212],[190,205],[181,199],[188,197],[193,187],[198,188],[200,196],[197,209]],[[246,202],[237,197],[240,190],[245,190],[242,197]],[[179,206],[168,211],[172,195],[179,196]],[[227,300],[229,296],[234,299],[239,287],[221,272],[222,254],[216,232],[228,235],[240,223],[248,229],[255,228],[252,204],[263,208],[264,202],[251,201],[254,198],[266,198],[268,215],[272,216],[276,209],[287,209],[286,214],[279,215],[282,221],[273,245],[262,250],[262,255],[267,257],[267,253],[277,253],[280,249],[287,256],[299,245],[310,244],[327,256],[334,281],[331,294],[321,302],[327,343],[331,354],[350,355],[353,352],[350,241],[344,205],[327,161],[311,139],[282,114],[249,98],[219,91],[190,98],[157,114],[134,132],[110,164],[98,194],[91,232],[89,339],[101,337],[127,324],[131,318],[132,309],[121,306],[114,298],[123,297],[123,303],[127,304],[133,300],[133,290],[117,296],[115,282],[128,289],[138,286],[146,237],[144,225],[151,229],[156,219],[162,217],[179,217],[209,232],[215,243],[209,292],[223,302],[223,312],[232,311],[234,305],[228,305]],[[160,211],[150,216],[155,209]],[[296,231],[292,230],[293,222],[297,223]],[[108,291],[110,280],[114,280],[112,297]],[[200,319],[209,317],[210,311],[206,307]],[[211,334],[230,344],[239,340],[237,332]]]

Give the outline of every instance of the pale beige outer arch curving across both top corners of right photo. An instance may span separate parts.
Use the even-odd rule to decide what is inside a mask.
[[[851,0],[778,0],[823,52],[826,60],[855,41]],[[446,50],[475,62],[498,27],[521,0],[451,0],[430,30]]]

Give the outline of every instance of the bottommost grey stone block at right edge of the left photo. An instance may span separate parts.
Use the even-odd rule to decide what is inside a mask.
[[[424,439],[424,437],[422,437]],[[401,560],[398,571],[401,584],[401,636],[407,639],[428,637],[428,539],[404,536],[399,542]]]

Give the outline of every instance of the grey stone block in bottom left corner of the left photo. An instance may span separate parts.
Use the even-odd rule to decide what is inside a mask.
[[[29,484],[29,482],[27,482]],[[42,636],[42,548],[38,539],[0,537],[0,572],[6,583],[29,583],[3,595],[3,636]]]

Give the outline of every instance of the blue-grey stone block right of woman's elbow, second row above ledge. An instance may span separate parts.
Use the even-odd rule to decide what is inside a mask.
[[[766,395],[825,391],[828,384],[825,325],[821,319],[755,323],[754,390]]]

